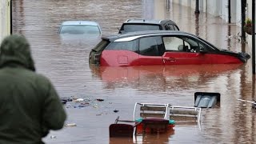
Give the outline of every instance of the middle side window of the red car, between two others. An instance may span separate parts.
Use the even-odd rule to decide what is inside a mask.
[[[147,37],[139,40],[139,54],[147,56],[161,55],[161,37]]]

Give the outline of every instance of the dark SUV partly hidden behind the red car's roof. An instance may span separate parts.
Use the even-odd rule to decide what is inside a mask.
[[[118,34],[144,30],[179,30],[175,22],[170,19],[165,20],[146,20],[128,19],[124,22]]]

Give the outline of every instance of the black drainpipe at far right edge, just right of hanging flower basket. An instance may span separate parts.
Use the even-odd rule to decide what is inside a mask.
[[[253,64],[253,74],[255,74],[255,1],[252,0],[252,64]]]

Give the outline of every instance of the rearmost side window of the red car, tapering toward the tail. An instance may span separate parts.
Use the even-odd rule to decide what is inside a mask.
[[[109,46],[106,47],[106,50],[130,50],[137,52],[137,40],[129,42],[112,42]]]

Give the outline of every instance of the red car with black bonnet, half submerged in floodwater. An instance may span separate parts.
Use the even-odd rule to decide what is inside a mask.
[[[182,31],[138,31],[102,37],[90,51],[97,66],[230,64],[247,62],[249,54],[221,50]]]

